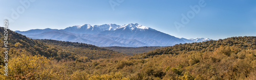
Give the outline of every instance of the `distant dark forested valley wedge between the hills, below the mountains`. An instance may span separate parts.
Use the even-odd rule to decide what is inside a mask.
[[[119,47],[119,46],[111,46],[111,47],[102,47],[106,49],[111,49],[114,51],[122,52],[123,54],[127,55],[136,55],[136,54],[141,54],[143,52],[148,52],[151,50],[155,50],[158,48],[163,48],[161,46],[144,46],[144,47]]]

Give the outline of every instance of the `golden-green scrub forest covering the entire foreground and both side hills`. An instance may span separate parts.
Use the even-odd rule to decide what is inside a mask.
[[[2,64],[1,79],[256,79],[256,37],[177,44],[123,56],[93,45],[10,34],[14,44],[10,44],[9,76],[3,75]],[[104,51],[113,57],[102,56]],[[63,52],[73,55],[61,56]]]

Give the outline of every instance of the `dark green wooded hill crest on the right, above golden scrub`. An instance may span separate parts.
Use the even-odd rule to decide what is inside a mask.
[[[219,40],[210,40],[205,42],[194,42],[194,43],[184,43],[184,44],[176,44],[174,46],[165,47],[161,49],[152,50],[149,52],[145,52],[141,55],[147,58],[149,56],[162,55],[162,54],[184,54],[189,51],[214,51],[219,47],[232,48],[234,52],[243,50],[243,49],[256,49],[256,37],[254,36],[245,36],[245,37],[231,37],[226,39]],[[227,56],[230,56],[230,52],[225,52]]]

